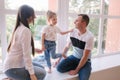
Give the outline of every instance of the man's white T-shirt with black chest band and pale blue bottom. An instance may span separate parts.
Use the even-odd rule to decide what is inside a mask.
[[[77,44],[79,45],[85,44],[80,47],[78,47],[79,45],[78,46],[73,45],[73,56],[75,56],[76,58],[81,59],[83,56],[84,50],[93,49],[94,36],[89,30],[87,30],[84,34],[80,34],[80,32],[77,29],[74,29],[73,32],[70,33],[69,40],[68,40],[71,42],[70,37],[75,39],[74,43],[76,40],[78,40],[79,42],[76,42]],[[91,54],[89,54],[88,58],[89,59],[91,58]]]

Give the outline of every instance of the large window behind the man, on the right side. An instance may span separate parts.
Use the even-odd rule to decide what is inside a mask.
[[[74,26],[76,16],[73,15],[84,13],[90,17],[88,29],[95,36],[93,56],[120,51],[118,3],[119,1],[114,3],[114,0],[69,0],[70,27]]]

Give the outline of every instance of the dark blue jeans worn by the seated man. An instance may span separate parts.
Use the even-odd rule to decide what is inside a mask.
[[[69,56],[66,59],[63,59],[57,66],[57,70],[61,73],[68,72],[70,70],[76,69],[80,62],[80,59],[77,59],[73,55]],[[86,64],[79,70],[79,80],[89,80],[91,74],[91,62],[87,61]]]

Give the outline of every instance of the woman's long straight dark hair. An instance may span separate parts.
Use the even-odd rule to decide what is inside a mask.
[[[12,34],[12,39],[11,39],[10,44],[8,46],[8,49],[7,49],[8,52],[9,52],[10,47],[11,47],[14,32],[20,26],[20,23],[22,23],[25,27],[30,29],[29,23],[27,21],[27,19],[30,18],[30,17],[33,17],[33,19],[35,17],[35,13],[34,13],[33,8],[28,6],[28,5],[21,6],[18,10],[16,25],[15,25],[15,28],[14,28],[14,31],[13,31],[13,34]],[[34,20],[33,20],[33,24],[34,24]],[[34,41],[33,41],[32,36],[31,36],[31,46],[32,46],[32,55],[34,56],[34,53],[35,53],[34,52]]]

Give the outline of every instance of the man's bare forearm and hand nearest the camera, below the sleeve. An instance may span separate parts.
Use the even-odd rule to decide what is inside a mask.
[[[83,53],[83,57],[81,58],[77,68],[75,70],[71,70],[69,71],[69,74],[71,75],[75,75],[78,73],[78,71],[85,65],[85,63],[87,62],[88,60],[88,56],[90,54],[90,51],[91,50],[84,50],[84,53]]]

